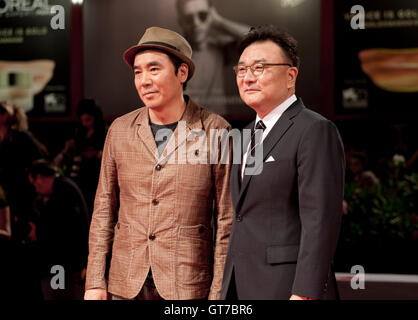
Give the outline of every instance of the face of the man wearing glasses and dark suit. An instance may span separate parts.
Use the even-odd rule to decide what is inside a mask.
[[[270,40],[254,42],[246,47],[239,59],[238,68],[257,63],[291,64],[282,49]],[[297,74],[296,67],[286,65],[265,65],[259,75],[254,75],[247,68],[244,76],[236,77],[241,99],[262,118],[295,92]]]

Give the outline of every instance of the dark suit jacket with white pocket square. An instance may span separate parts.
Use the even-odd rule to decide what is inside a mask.
[[[261,174],[242,183],[240,165],[231,169],[235,219],[221,298],[232,272],[239,299],[335,298],[345,170],[335,125],[298,99],[265,138],[263,159]]]

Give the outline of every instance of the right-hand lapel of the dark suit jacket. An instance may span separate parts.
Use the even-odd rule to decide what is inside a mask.
[[[280,119],[275,123],[267,137],[263,141],[263,161],[260,165],[264,164],[264,161],[267,159],[270,151],[274,148],[274,146],[280,141],[283,135],[289,130],[289,128],[293,125],[293,118],[304,108],[302,99],[296,100],[292,103],[289,108],[282,114]],[[254,123],[253,123],[254,125]],[[245,149],[246,150],[246,149]],[[244,164],[243,164],[244,165]],[[255,170],[257,171],[257,170]],[[238,196],[237,206],[236,209],[239,209],[239,205],[242,202],[243,194],[250,183],[252,175],[245,175],[241,183],[240,193]]]

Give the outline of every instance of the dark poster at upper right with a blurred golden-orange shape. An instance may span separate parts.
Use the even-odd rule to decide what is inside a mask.
[[[353,6],[364,8],[364,29]],[[335,88],[339,114],[418,112],[418,1],[335,1]]]

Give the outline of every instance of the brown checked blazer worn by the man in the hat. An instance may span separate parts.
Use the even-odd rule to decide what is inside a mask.
[[[86,289],[107,288],[130,299],[151,268],[164,299],[219,298],[233,215],[230,165],[205,163],[210,141],[191,135],[230,126],[186,101],[161,156],[146,107],[112,123],[90,228]]]

